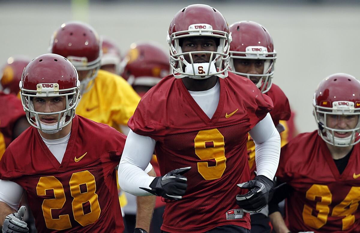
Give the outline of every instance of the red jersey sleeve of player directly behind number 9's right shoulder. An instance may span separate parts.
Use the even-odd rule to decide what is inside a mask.
[[[272,84],[265,95],[269,96],[274,104],[274,109],[270,112],[270,115],[275,126],[279,124],[280,120],[289,120],[291,116],[289,100],[280,87]]]

